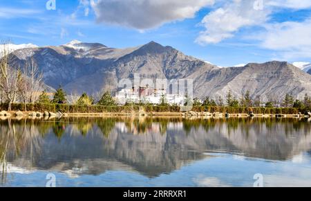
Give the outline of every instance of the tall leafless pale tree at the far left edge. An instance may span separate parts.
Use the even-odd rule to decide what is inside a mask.
[[[21,71],[14,69],[10,65],[12,57],[8,49],[8,43],[4,43],[2,48],[0,59],[0,89],[3,92],[6,103],[8,103],[8,110],[10,111],[11,105],[17,99],[17,93],[19,92]]]

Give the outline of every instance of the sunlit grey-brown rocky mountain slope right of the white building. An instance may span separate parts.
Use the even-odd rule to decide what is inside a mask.
[[[236,97],[241,97],[248,90],[253,98],[261,96],[265,101],[271,98],[279,100],[287,93],[302,98],[311,92],[311,76],[288,62],[216,69],[194,77],[194,80],[196,94],[214,98],[225,96],[229,90]]]

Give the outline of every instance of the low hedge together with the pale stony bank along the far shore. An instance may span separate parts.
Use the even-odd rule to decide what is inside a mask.
[[[11,116],[19,111],[21,116],[44,116],[44,112],[55,113],[53,116],[236,116],[236,117],[307,117],[310,108],[270,108],[270,107],[192,107],[190,112],[182,112],[179,106],[129,105],[64,105],[64,104],[26,104],[13,103]],[[0,104],[0,111],[6,111],[7,104]],[[21,114],[21,112],[23,114]],[[59,113],[60,112],[60,113]],[[41,114],[40,114],[41,113]],[[1,116],[1,114],[0,114]],[[4,115],[2,115],[4,116]]]

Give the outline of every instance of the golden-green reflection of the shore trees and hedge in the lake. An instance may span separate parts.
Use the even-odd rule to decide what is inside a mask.
[[[222,125],[226,126],[227,136],[230,137],[232,132],[241,129],[245,134],[245,137],[249,135],[250,129],[256,129],[261,132],[263,126],[267,130],[274,130],[276,126],[281,126],[284,128],[284,134],[288,136],[294,131],[303,129],[305,134],[308,134],[311,130],[310,126],[306,126],[306,120],[299,119],[247,119],[247,118],[232,118],[232,119],[181,119],[181,118],[74,118],[74,119],[64,119],[61,122],[54,123],[37,123],[39,132],[41,134],[47,133],[50,128],[53,128],[55,136],[59,139],[65,133],[66,126],[68,124],[75,125],[77,130],[86,136],[89,132],[93,130],[96,125],[100,128],[104,137],[109,137],[112,130],[115,128],[116,123],[124,123],[127,130],[133,134],[147,134],[149,132],[158,132],[160,134],[166,134],[167,126],[169,123],[182,123],[182,129],[189,134],[191,130],[198,130],[199,128],[204,128],[206,132],[214,129],[216,126],[219,132],[223,132]],[[73,122],[73,123],[71,123]]]

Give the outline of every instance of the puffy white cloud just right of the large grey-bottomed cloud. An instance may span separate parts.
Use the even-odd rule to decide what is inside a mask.
[[[254,2],[249,0],[234,0],[218,8],[202,19],[205,27],[196,39],[198,44],[216,44],[245,26],[261,25],[267,21],[270,10],[258,10]]]

